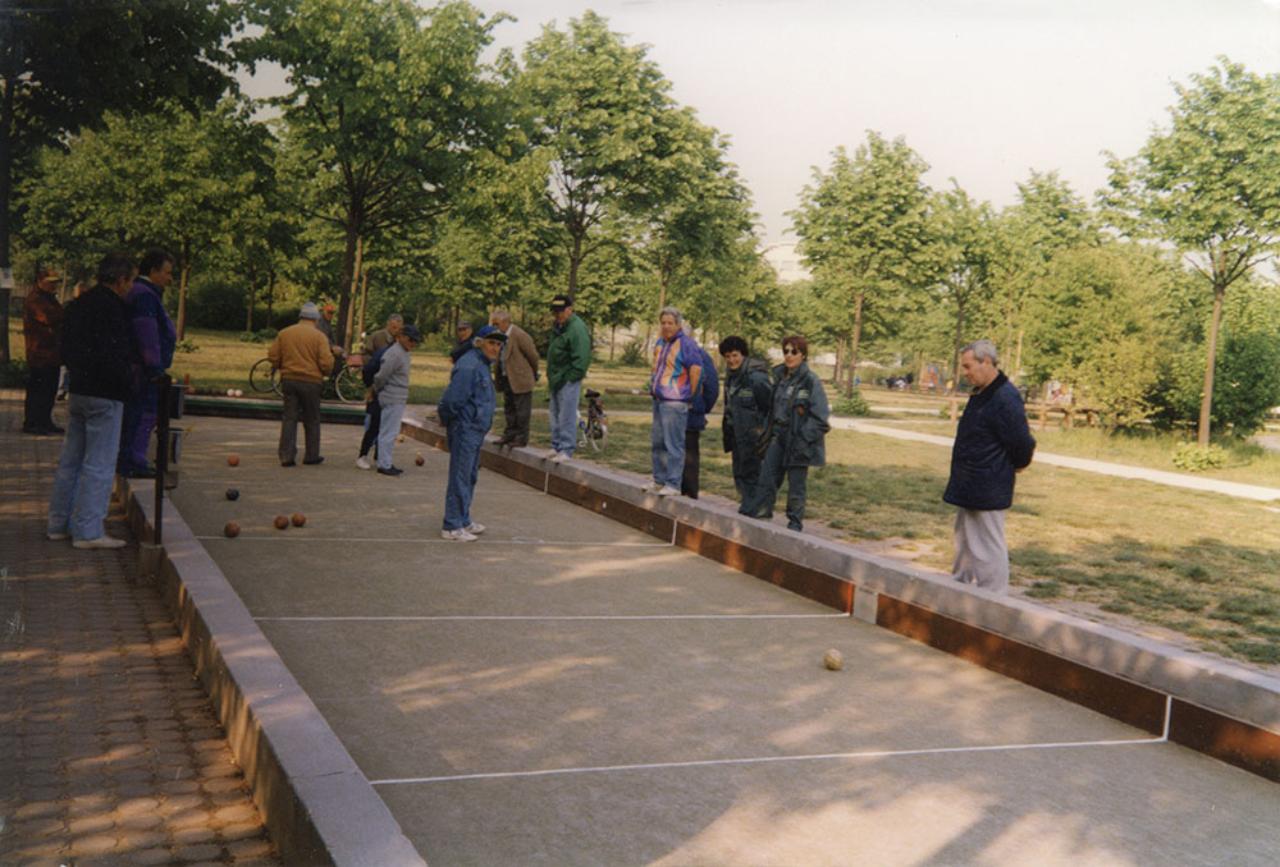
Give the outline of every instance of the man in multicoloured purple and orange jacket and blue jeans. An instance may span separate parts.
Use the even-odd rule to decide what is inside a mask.
[[[659,497],[680,493],[681,476],[685,474],[689,409],[703,378],[701,347],[681,330],[684,324],[684,318],[675,307],[663,307],[658,314],[662,337],[653,347],[653,373],[649,377],[649,394],[653,397],[653,429],[649,433],[653,484],[648,489]]]

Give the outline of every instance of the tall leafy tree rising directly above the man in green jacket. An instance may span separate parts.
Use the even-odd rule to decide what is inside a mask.
[[[524,53],[518,102],[530,143],[545,152],[547,200],[562,229],[568,293],[582,261],[608,243],[613,215],[649,215],[704,154],[671,83],[641,46],[627,46],[588,12],[568,31],[543,29]],[[705,129],[705,128],[704,128]]]

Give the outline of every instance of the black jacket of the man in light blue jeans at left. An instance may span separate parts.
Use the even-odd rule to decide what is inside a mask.
[[[124,300],[99,283],[67,305],[63,318],[63,364],[72,374],[72,394],[133,398],[133,365],[142,364]]]

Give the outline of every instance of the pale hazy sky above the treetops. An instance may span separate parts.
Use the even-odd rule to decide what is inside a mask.
[[[1280,0],[472,0],[540,28],[594,9],[649,46],[677,101],[731,141],[765,245],[814,166],[867,131],[902,136],[997,207],[1034,170],[1092,199],[1103,150],[1132,156],[1167,119],[1174,82],[1219,55],[1280,72]],[[252,90],[257,90],[251,88]]]

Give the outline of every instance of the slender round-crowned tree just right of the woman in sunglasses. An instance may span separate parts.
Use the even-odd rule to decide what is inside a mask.
[[[814,168],[800,207],[791,211],[800,254],[817,282],[841,287],[852,302],[849,392],[868,298],[900,296],[918,280],[916,256],[929,229],[928,168],[904,138],[888,141],[872,131],[852,158],[837,147],[827,172]]]

